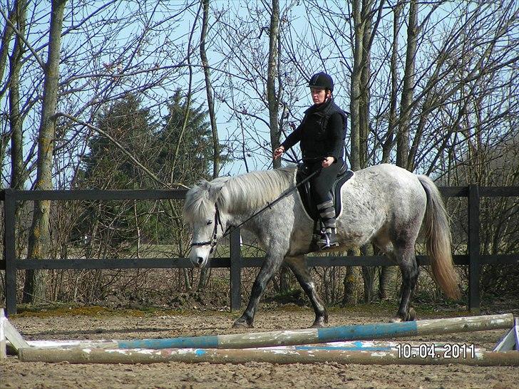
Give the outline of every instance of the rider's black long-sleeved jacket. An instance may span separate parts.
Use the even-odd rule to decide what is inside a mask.
[[[312,105],[304,111],[304,118],[298,128],[282,142],[288,150],[301,142],[303,160],[321,160],[334,157],[339,160],[344,152],[347,113],[341,110],[332,99],[322,105]]]

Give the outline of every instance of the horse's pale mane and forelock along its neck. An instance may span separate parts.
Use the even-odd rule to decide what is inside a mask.
[[[215,203],[224,212],[247,212],[272,202],[294,185],[295,168],[258,170],[235,177],[202,181],[187,192],[184,216],[192,222],[214,212]]]

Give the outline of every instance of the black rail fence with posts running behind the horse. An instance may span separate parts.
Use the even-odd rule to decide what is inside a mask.
[[[443,197],[468,197],[468,242],[466,255],[455,255],[454,263],[468,266],[468,308],[480,308],[480,269],[483,264],[513,264],[519,262],[518,254],[482,255],[480,244],[480,198],[519,197],[519,187],[441,187]],[[6,277],[6,311],[16,313],[16,271],[24,269],[158,269],[190,268],[186,258],[149,259],[19,259],[15,251],[16,202],[27,200],[160,200],[183,199],[186,190],[10,190],[0,192],[4,201],[4,259],[0,260],[0,270]],[[241,269],[260,267],[262,258],[242,258],[240,252],[240,231],[230,235],[230,256],[218,258],[209,263],[211,267],[230,269],[231,309],[240,308]],[[426,256],[417,256],[418,263],[429,263]],[[392,266],[386,256],[309,256],[309,266]]]

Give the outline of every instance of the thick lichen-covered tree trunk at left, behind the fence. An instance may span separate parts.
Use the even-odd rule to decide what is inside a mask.
[[[51,190],[53,146],[56,136],[56,106],[58,100],[58,76],[61,46],[61,28],[66,0],[53,0],[51,28],[48,36],[48,59],[43,68],[43,103],[38,132],[38,160],[36,161],[35,190]],[[51,242],[49,214],[51,202],[34,202],[34,214],[29,232],[29,259],[46,259]],[[27,271],[24,285],[24,302],[35,303],[45,299],[46,273],[44,270]]]

